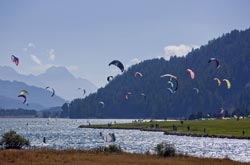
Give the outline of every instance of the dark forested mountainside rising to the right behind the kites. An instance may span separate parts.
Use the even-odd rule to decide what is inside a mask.
[[[217,58],[217,69],[210,58]],[[195,72],[192,80],[187,69]],[[134,77],[141,72],[143,77]],[[179,87],[175,94],[169,78],[177,76]],[[104,88],[85,99],[69,104],[71,118],[169,118],[188,117],[194,112],[219,114],[220,108],[250,111],[250,29],[233,30],[192,50],[186,57],[151,59],[133,65],[116,76]],[[221,80],[218,86],[214,78]],[[231,82],[227,89],[226,82]],[[173,80],[172,80],[173,81]],[[175,85],[175,84],[174,84]],[[194,90],[199,89],[199,93]],[[124,99],[131,92],[128,99]],[[144,93],[146,97],[142,97]],[[99,102],[103,101],[105,106]],[[66,108],[67,109],[67,108]],[[68,109],[67,109],[68,111]]]

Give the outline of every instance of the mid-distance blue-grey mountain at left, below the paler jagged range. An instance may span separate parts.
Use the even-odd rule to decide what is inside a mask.
[[[29,86],[23,82],[0,80],[0,107],[4,109],[24,108],[42,110],[49,107],[61,106],[65,100],[54,96],[45,88]],[[23,99],[18,98],[19,91],[27,90],[27,103],[23,104]]]

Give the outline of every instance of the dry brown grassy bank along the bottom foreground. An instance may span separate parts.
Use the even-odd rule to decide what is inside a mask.
[[[0,164],[18,165],[60,165],[60,164],[88,164],[88,165],[189,165],[189,164],[225,164],[240,165],[229,159],[207,159],[187,156],[163,158],[155,155],[128,154],[128,153],[105,153],[96,151],[79,150],[0,150]]]

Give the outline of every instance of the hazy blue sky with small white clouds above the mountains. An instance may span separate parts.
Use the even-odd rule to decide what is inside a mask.
[[[0,66],[38,75],[64,66],[97,87],[143,60],[186,55],[250,27],[249,0],[0,0]],[[16,67],[10,60],[19,57]]]

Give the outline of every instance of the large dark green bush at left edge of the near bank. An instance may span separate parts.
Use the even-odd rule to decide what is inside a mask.
[[[9,131],[3,135],[0,145],[5,149],[21,149],[24,146],[29,146],[30,142],[15,131]]]

